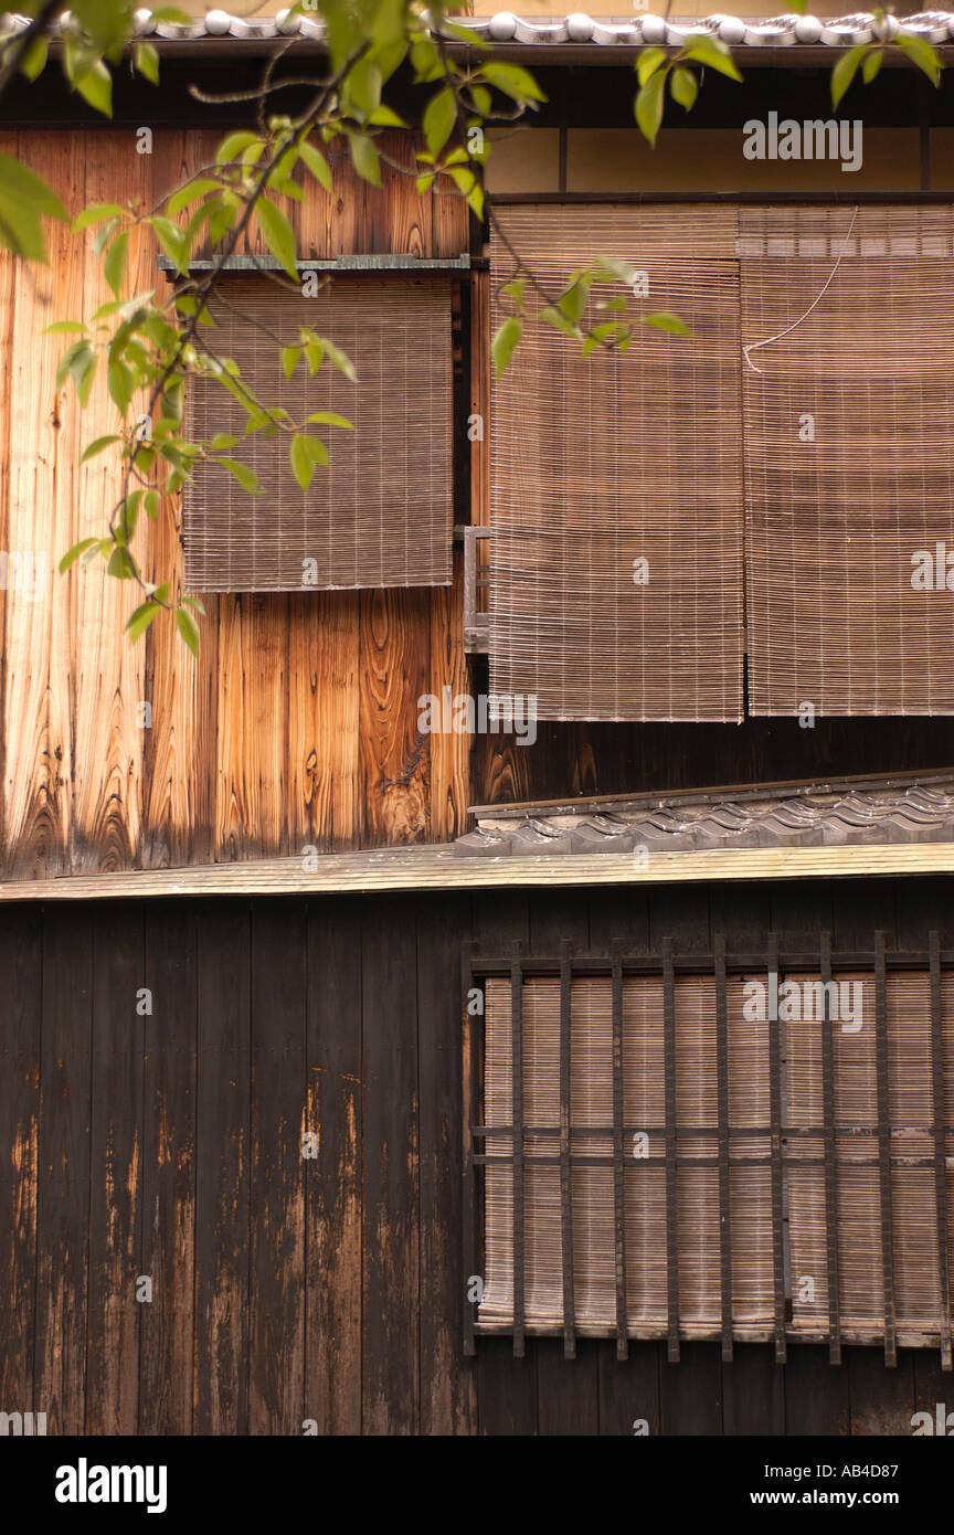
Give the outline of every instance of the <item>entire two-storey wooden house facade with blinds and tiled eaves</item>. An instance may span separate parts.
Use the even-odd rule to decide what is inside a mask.
[[[55,569],[115,490],[80,462],[106,390],[83,419],[46,332],[100,264],[64,226],[43,270],[0,253],[0,1411],[871,1435],[943,1401],[954,596],[908,577],[954,537],[954,94],[891,58],[833,112],[867,23],[742,14],[745,83],[709,71],[650,150],[633,63],[683,23],[468,18],[546,94],[494,130],[492,221],[419,195],[397,129],[380,187],[331,146],[288,204],[339,290],[446,295],[449,579],[222,577],[198,660],[130,646],[127,583]],[[71,212],[195,173],[245,117],[189,84],[241,92],[282,35],[143,28],[163,87],[117,78],[109,123],[0,103]],[[913,28],[948,57],[954,17]],[[831,157],[779,158],[828,120]],[[528,327],[492,381],[503,236],[632,261],[689,353],[587,375]],[[146,233],[130,281],[169,281]],[[196,528],[167,497],[149,569],[186,582]]]

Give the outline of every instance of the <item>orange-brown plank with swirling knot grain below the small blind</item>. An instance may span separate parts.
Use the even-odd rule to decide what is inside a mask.
[[[428,608],[417,588],[360,594],[364,847],[431,837],[431,738],[417,728],[417,700],[429,691]]]

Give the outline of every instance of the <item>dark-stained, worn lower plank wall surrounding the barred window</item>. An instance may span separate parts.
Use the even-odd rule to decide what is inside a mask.
[[[952,910],[949,880],[6,907],[3,1411],[49,1434],[910,1434],[949,1400],[934,1352],[462,1357],[460,944],[954,944]]]

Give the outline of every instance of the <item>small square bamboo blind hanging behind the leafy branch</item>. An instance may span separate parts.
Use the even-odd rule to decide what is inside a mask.
[[[330,450],[308,491],[288,462],[285,431],[230,450],[258,473],[250,496],[221,468],[199,465],[184,499],[186,582],[192,591],[442,586],[452,576],[451,290],[440,278],[336,278],[313,298],[261,276],[230,276],[210,304],[216,353],[233,358],[258,399],[301,421],[330,410],[354,431],[314,425]],[[354,362],[357,384],[328,361],[285,379],[279,345],[302,325]],[[245,413],[216,384],[190,390],[190,431],[242,436]]]

